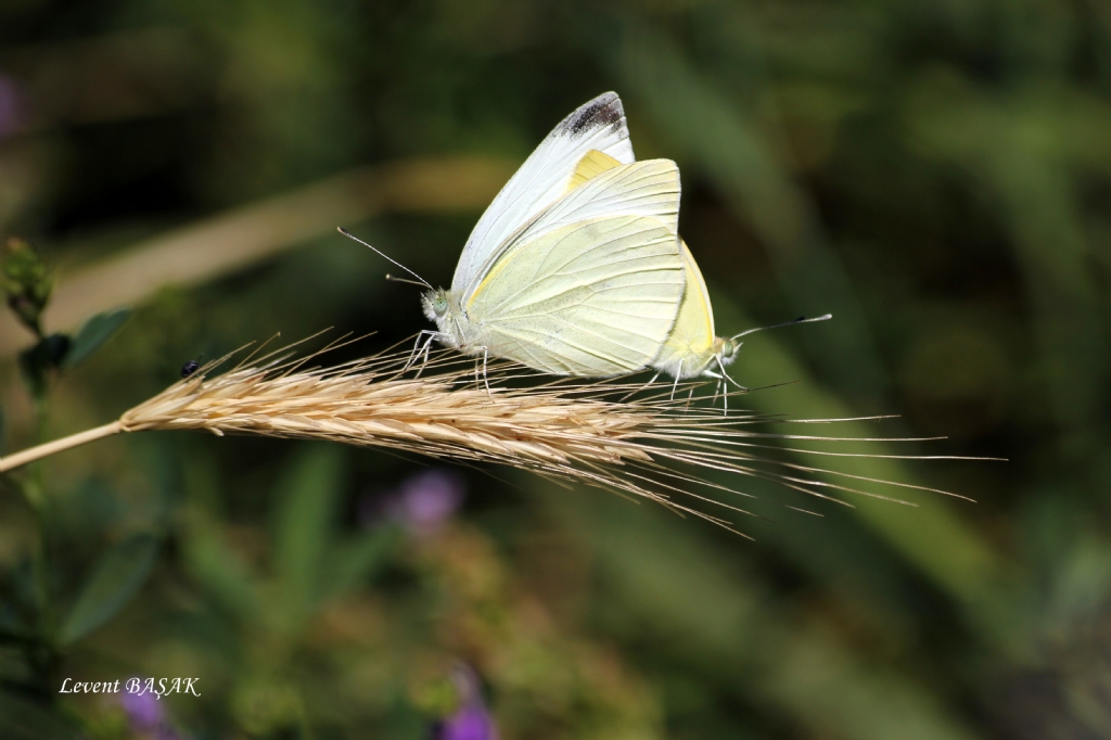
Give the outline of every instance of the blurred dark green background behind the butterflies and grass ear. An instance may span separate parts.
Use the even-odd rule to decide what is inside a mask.
[[[134,311],[38,409],[6,318],[0,453],[279,331],[426,328],[334,227],[447,284],[610,89],[681,168],[719,331],[834,314],[745,343],[738,380],[801,382],[744,407],[1009,458],[821,461],[977,503],[732,481],[750,543],[514,471],[113,438],[0,478],[0,737],[492,737],[468,710],[502,740],[1111,737],[1097,0],[4,0],[0,238],[57,268],[48,331]]]

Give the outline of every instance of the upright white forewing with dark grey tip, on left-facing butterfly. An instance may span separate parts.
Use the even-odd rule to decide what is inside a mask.
[[[510,178],[467,239],[451,289],[461,292],[473,284],[491,254],[563,193],[575,164],[592,149],[622,163],[635,159],[614,92],[598,96],[563,119]]]

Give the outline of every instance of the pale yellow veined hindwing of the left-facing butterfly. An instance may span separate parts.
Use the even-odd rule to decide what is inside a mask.
[[[655,358],[682,290],[671,229],[642,216],[593,218],[506,253],[468,317],[493,356],[552,374],[614,376]]]

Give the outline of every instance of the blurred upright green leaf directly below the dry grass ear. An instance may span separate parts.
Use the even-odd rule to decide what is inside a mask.
[[[320,578],[341,491],[338,446],[311,446],[279,487],[273,520],[274,570],[282,582],[291,623],[308,616]]]

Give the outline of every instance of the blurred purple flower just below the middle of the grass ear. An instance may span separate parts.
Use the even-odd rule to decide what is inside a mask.
[[[400,523],[417,538],[436,534],[463,502],[463,479],[450,470],[429,470],[409,478],[382,499],[364,498],[359,504],[363,526],[373,526],[382,514]]]

